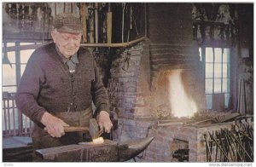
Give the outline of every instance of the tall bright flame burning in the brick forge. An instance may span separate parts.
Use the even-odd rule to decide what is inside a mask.
[[[197,112],[195,101],[189,98],[182,82],[183,70],[175,70],[169,73],[169,101],[174,117],[192,117]]]

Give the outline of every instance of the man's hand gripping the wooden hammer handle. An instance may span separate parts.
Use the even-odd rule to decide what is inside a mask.
[[[62,135],[65,135],[64,126],[69,126],[60,118],[56,118],[49,112],[44,112],[41,123],[45,126],[44,130],[47,130],[52,137],[61,137]]]

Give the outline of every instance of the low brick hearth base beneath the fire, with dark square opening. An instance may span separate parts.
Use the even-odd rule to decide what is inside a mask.
[[[143,162],[207,162],[206,142],[203,135],[231,127],[230,123],[207,124],[205,127],[186,126],[183,121],[171,121],[166,125],[145,119],[128,122],[120,120],[120,123],[124,130],[119,135],[127,135],[124,134],[127,133],[125,130],[130,130],[134,135],[133,138],[155,136],[146,151],[137,157],[137,161]],[[178,154],[179,151],[183,151],[182,155]]]

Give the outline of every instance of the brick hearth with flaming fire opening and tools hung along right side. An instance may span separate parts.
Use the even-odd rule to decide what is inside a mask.
[[[136,157],[137,161],[253,160],[252,116],[233,111],[207,110],[204,87],[199,82],[192,69],[162,71],[154,83],[156,89],[152,91],[154,100],[150,105],[150,109],[156,112],[156,118],[119,119],[118,135],[121,137],[155,136],[148,148]],[[247,130],[241,130],[242,127],[247,127]],[[252,140],[250,137],[242,137],[243,132],[251,136]],[[236,147],[239,145],[248,145],[251,148]],[[249,155],[237,157],[238,150],[247,150],[247,153],[238,154]]]

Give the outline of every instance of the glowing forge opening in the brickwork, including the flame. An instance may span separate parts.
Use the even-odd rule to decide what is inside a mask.
[[[206,109],[205,95],[193,70],[160,72],[155,84],[152,107],[159,119],[191,118],[196,112]]]

